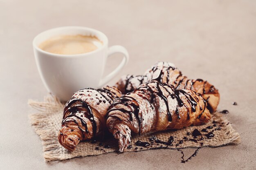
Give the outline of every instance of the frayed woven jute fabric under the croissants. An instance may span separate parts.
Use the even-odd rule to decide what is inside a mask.
[[[59,102],[54,96],[45,97],[44,102],[37,102],[33,100],[28,101],[29,105],[39,111],[29,115],[31,125],[34,126],[36,134],[40,136],[43,144],[43,156],[45,161],[53,160],[65,160],[74,157],[86,157],[86,156],[96,156],[101,154],[106,154],[109,152],[117,152],[118,141],[109,137],[108,139],[103,139],[102,141],[97,141],[92,144],[91,141],[83,141],[78,144],[76,150],[70,152],[63,148],[58,143],[58,131],[61,128],[61,121],[63,117],[63,107],[64,104]],[[215,124],[215,125],[214,125]],[[213,126],[208,127],[208,126]],[[202,132],[203,128],[208,127],[208,132]],[[216,128],[220,130],[216,130]],[[189,141],[193,139],[193,130],[198,129],[202,135],[198,136],[197,141]],[[214,137],[208,139],[206,134],[213,131]],[[191,133],[188,135],[187,132]],[[168,141],[170,136],[173,136],[173,145],[167,146],[166,144],[157,144],[155,141],[150,141],[150,137],[155,136],[156,139],[161,141]],[[187,137],[188,139],[184,139]],[[203,138],[202,140],[200,140]],[[136,141],[149,142],[150,146],[136,146]],[[182,143],[182,142],[183,143]],[[151,143],[152,142],[152,143]],[[200,143],[203,143],[200,144]],[[181,130],[168,130],[165,132],[154,132],[144,135],[135,135],[132,137],[131,148],[127,152],[137,152],[142,150],[156,149],[156,148],[187,148],[187,147],[217,147],[227,144],[239,144],[240,135],[234,130],[232,124],[223,116],[221,113],[214,113],[212,115],[211,121],[202,126],[190,126],[183,128]],[[177,145],[178,144],[178,145]],[[110,148],[105,147],[110,146]]]

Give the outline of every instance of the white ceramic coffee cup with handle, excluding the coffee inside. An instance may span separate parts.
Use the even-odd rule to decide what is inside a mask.
[[[38,47],[49,38],[60,35],[92,35],[103,42],[103,45],[94,51],[74,55],[49,53]],[[33,48],[43,84],[50,93],[62,101],[69,100],[72,94],[81,88],[102,87],[117,75],[129,60],[128,52],[123,46],[108,47],[108,38],[105,34],[80,26],[65,26],[44,31],[34,38]],[[114,53],[123,54],[123,60],[114,71],[102,77],[106,59]]]

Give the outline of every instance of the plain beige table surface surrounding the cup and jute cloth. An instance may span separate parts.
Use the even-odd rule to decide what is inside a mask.
[[[185,75],[207,79],[219,89],[218,110],[229,110],[242,143],[202,148],[185,164],[180,152],[165,149],[45,163],[27,116],[35,111],[27,100],[47,95],[31,42],[58,26],[99,29],[110,45],[128,49],[130,62],[109,84],[123,74],[143,73],[156,61],[173,62]],[[106,73],[120,61],[115,57]],[[256,169],[255,74],[254,0],[0,0],[0,169]],[[193,152],[184,149],[186,157]]]

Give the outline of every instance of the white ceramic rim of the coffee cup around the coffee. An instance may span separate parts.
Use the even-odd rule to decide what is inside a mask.
[[[38,42],[38,38],[48,34],[49,32],[52,32],[52,31],[56,31],[55,36],[60,35],[60,34],[58,34],[58,31],[63,30],[63,29],[73,29],[73,30],[78,30],[79,29],[79,30],[84,30],[84,31],[87,31],[87,32],[99,34],[99,35],[101,35],[101,38],[99,38],[96,35],[95,36],[103,42],[103,45],[101,47],[99,47],[98,49],[94,50],[94,51],[90,51],[88,53],[81,53],[81,54],[55,54],[55,53],[49,53],[47,51],[44,51],[44,50],[42,50],[38,47],[38,44],[42,43],[42,42]],[[80,34],[80,33],[78,33],[78,34]],[[45,53],[47,55],[51,55],[51,56],[54,56],[54,57],[84,57],[86,55],[91,55],[93,53],[97,53],[101,49],[106,48],[108,46],[108,37],[104,33],[102,33],[101,31],[98,31],[98,30],[92,29],[92,28],[88,28],[88,27],[84,27],[84,26],[62,26],[62,27],[57,27],[57,28],[53,28],[53,29],[48,29],[46,31],[43,31],[43,32],[39,33],[34,38],[32,44],[33,44],[34,48],[36,50],[40,51],[41,53]]]

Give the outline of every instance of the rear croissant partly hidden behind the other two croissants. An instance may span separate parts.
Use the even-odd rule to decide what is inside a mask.
[[[208,109],[215,112],[220,101],[218,90],[209,82],[202,79],[188,79],[181,71],[169,62],[158,62],[144,75],[127,75],[121,77],[116,83],[117,88],[123,93],[132,92],[137,86],[149,81],[163,82],[173,85],[176,89],[188,89],[202,94],[208,99]]]

